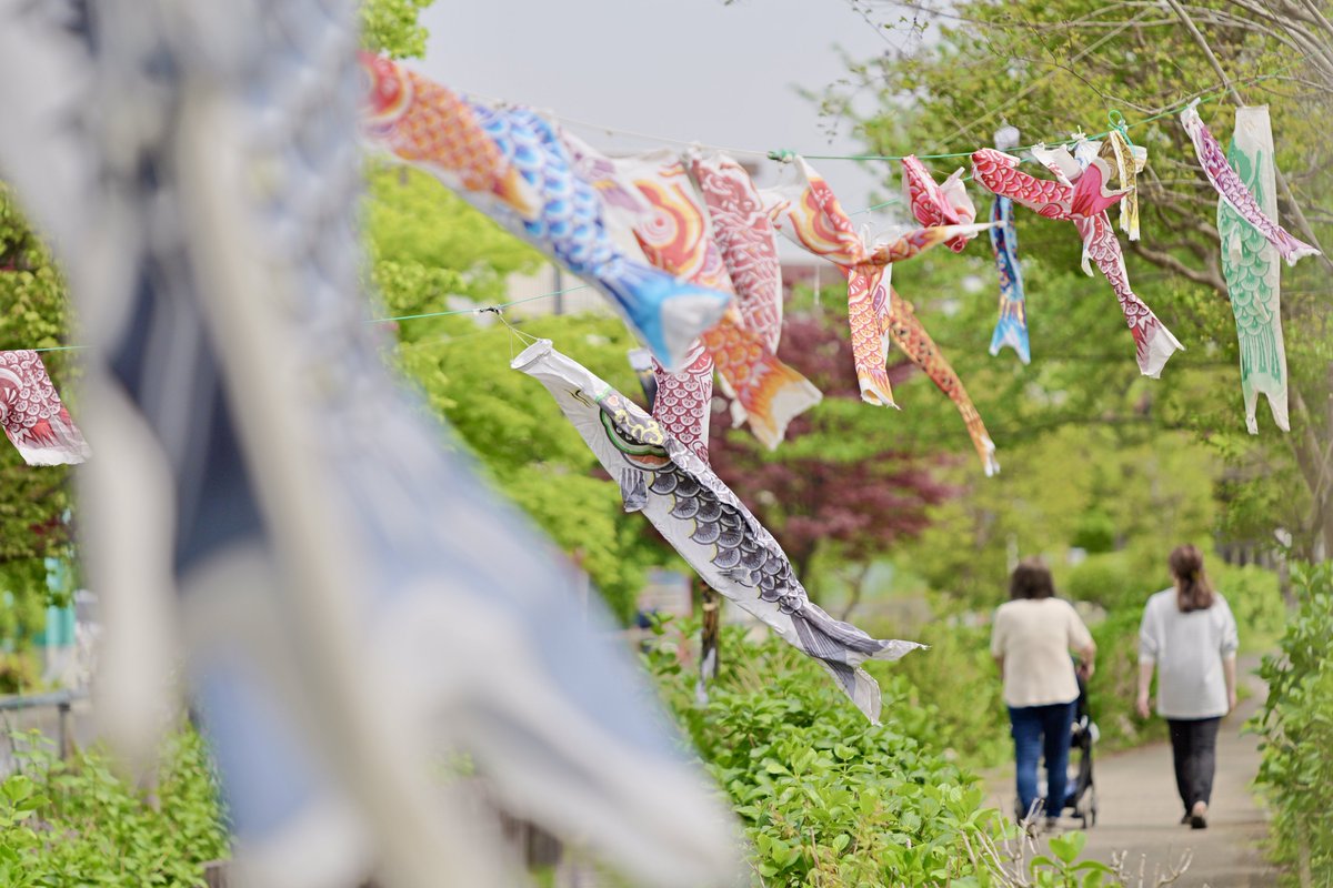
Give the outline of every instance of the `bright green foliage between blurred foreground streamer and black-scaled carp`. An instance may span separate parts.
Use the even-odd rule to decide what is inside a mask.
[[[645,570],[674,563],[674,555],[640,517],[624,514],[619,485],[545,389],[508,367],[524,342],[496,316],[467,310],[503,302],[507,278],[536,272],[541,257],[405,166],[372,166],[365,213],[372,278],[388,314],[460,312],[400,321],[401,370],[479,458],[483,474],[581,563],[612,611],[628,620]],[[637,390],[625,362],[633,343],[620,321],[548,316],[524,326],[557,339],[623,391]]]

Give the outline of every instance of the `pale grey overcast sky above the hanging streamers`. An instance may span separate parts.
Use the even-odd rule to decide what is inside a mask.
[[[826,121],[797,88],[821,92],[845,76],[838,48],[869,59],[886,40],[909,39],[881,35],[849,0],[436,0],[421,21],[431,41],[413,64],[463,92],[549,109],[565,122],[817,154],[861,146],[846,126],[829,144]],[[661,145],[572,129],[607,150]],[[849,210],[870,204],[886,169],[813,164]]]

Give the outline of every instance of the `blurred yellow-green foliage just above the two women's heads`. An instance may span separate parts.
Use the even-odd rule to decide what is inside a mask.
[[[966,493],[933,507],[932,526],[894,558],[973,607],[1004,600],[1012,554],[1042,555],[1056,567],[1072,546],[1088,542],[1090,521],[1102,538],[1114,529],[1118,551],[1092,555],[1088,567],[1070,571],[1069,582],[1092,588],[1073,596],[1106,607],[1122,595],[1141,603],[1153,576],[1161,574],[1157,588],[1165,586],[1164,541],[1206,539],[1214,522],[1212,462],[1180,433],[1130,443],[1112,429],[1068,425],[1020,438],[1001,461],[996,478],[976,477],[970,463],[956,469],[952,479]],[[1062,572],[1057,580],[1066,579]]]

